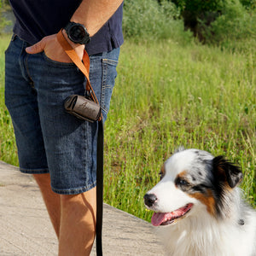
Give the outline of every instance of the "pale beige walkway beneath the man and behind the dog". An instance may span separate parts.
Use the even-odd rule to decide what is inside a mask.
[[[32,176],[0,161],[0,256],[57,255],[58,241]],[[104,205],[103,255],[164,255],[151,224]],[[91,255],[96,255],[95,247]]]

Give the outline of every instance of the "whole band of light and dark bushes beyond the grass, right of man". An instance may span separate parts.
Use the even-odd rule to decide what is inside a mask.
[[[127,0],[125,38],[136,42],[172,38],[178,44],[190,44],[192,32],[204,44],[244,50],[243,40],[256,46],[254,3],[256,0]]]

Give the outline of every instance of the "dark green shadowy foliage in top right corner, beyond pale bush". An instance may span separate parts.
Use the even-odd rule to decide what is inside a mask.
[[[173,0],[185,29],[203,43],[222,43],[255,35],[255,0]]]

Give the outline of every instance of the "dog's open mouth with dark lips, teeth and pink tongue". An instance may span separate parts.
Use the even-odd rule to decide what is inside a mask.
[[[151,223],[154,226],[168,225],[177,221],[178,218],[183,218],[191,208],[193,207],[192,203],[187,204],[184,207],[180,207],[173,212],[154,212]]]

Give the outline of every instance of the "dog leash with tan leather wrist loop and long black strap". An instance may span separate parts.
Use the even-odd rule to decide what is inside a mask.
[[[94,90],[90,85],[89,70],[90,70],[90,58],[84,49],[83,62],[79,59],[79,56],[68,44],[66,38],[64,38],[62,31],[57,33],[57,39],[61,44],[61,47],[66,51],[67,55],[73,61],[73,63],[79,67],[79,70],[84,73],[86,78],[86,90],[90,92],[94,102],[97,101]],[[103,146],[104,146],[104,129],[102,114],[98,119],[98,137],[97,137],[97,160],[96,160],[96,254],[102,256],[102,217],[103,217]]]

